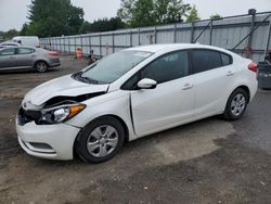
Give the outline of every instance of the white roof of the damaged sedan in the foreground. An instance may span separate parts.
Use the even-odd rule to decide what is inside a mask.
[[[134,48],[129,48],[127,50],[134,50],[134,51],[144,51],[144,52],[160,52],[160,51],[170,51],[170,50],[178,50],[178,49],[212,49],[222,52],[228,52],[228,50],[214,47],[214,46],[205,46],[199,43],[160,43],[160,44],[150,44],[150,46],[140,46]]]

